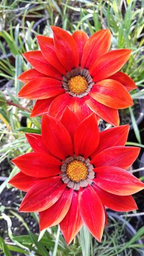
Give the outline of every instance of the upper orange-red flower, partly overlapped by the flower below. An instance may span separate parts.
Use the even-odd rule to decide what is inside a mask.
[[[82,31],[72,36],[60,27],[52,26],[52,31],[54,39],[37,36],[40,51],[23,54],[33,69],[19,76],[26,85],[18,97],[37,100],[31,117],[48,112],[60,119],[70,106],[81,120],[95,112],[106,122],[119,125],[118,109],[132,105],[128,90],[136,88],[129,76],[118,71],[131,50],[109,51],[111,34],[107,29],[90,38]]]

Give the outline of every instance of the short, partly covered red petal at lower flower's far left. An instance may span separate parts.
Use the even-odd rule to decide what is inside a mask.
[[[23,172],[18,172],[18,174],[10,179],[9,184],[14,186],[15,188],[27,192],[29,189],[32,188],[32,186],[35,185],[35,183],[37,183],[37,181],[38,178],[28,176],[26,174],[23,174]]]

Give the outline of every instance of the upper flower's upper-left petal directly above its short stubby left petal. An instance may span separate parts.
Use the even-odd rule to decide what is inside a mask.
[[[27,53],[24,53],[23,56],[32,65],[32,67],[34,67],[40,73],[62,80],[62,75],[60,72],[57,71],[56,68],[52,67],[48,61],[46,61],[41,54],[41,51],[28,51]]]

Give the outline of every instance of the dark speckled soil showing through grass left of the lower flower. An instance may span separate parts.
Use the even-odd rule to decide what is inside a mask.
[[[7,159],[5,159],[1,163],[0,176],[9,177],[10,169],[11,167],[7,162]],[[0,181],[0,185],[1,184],[2,184],[2,181]],[[24,197],[24,194],[25,194],[24,192],[22,192],[21,194],[21,191],[15,188],[12,188],[12,189],[5,188],[4,191],[2,191],[2,193],[0,194],[0,216],[1,216],[1,212],[10,216],[10,219],[12,221],[11,230],[14,236],[27,235],[27,230],[22,224],[22,222],[20,222],[18,218],[16,218],[12,214],[10,215],[10,210],[15,211],[15,213],[18,213],[18,208],[19,208],[18,205],[20,205],[22,200],[21,196]],[[38,224],[34,220],[34,218],[31,216],[31,214],[29,213],[18,213],[18,214],[24,219],[24,221],[28,225],[31,232],[35,234],[39,233]],[[0,236],[2,236],[2,238],[4,238],[5,241],[10,242],[9,235],[7,232],[7,221],[5,221],[4,219],[1,219],[0,221]]]

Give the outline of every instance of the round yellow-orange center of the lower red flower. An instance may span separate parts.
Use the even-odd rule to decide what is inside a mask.
[[[88,168],[87,166],[85,166],[85,163],[74,160],[70,164],[68,164],[67,175],[70,180],[73,180],[74,182],[79,182],[87,178]]]

